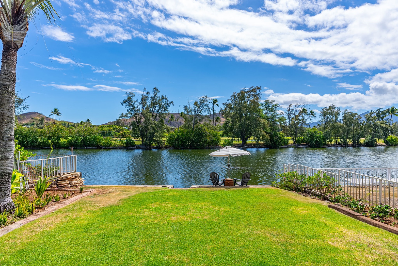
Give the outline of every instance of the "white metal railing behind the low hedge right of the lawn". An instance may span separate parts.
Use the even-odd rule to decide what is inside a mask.
[[[388,171],[390,169],[390,171]],[[348,194],[361,199],[365,205],[398,207],[398,180],[391,176],[397,168],[312,168],[300,164],[283,164],[283,172],[296,171],[304,176],[326,175],[335,180],[341,190],[337,194]],[[393,171],[391,171],[393,170]],[[384,178],[390,172],[390,179]],[[369,173],[364,174],[364,173]],[[380,176],[376,176],[380,173]],[[388,177],[388,175],[387,175]]]

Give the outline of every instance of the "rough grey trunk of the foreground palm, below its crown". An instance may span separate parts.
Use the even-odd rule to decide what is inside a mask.
[[[0,213],[14,211],[11,176],[14,167],[16,45],[4,44],[0,69]]]

